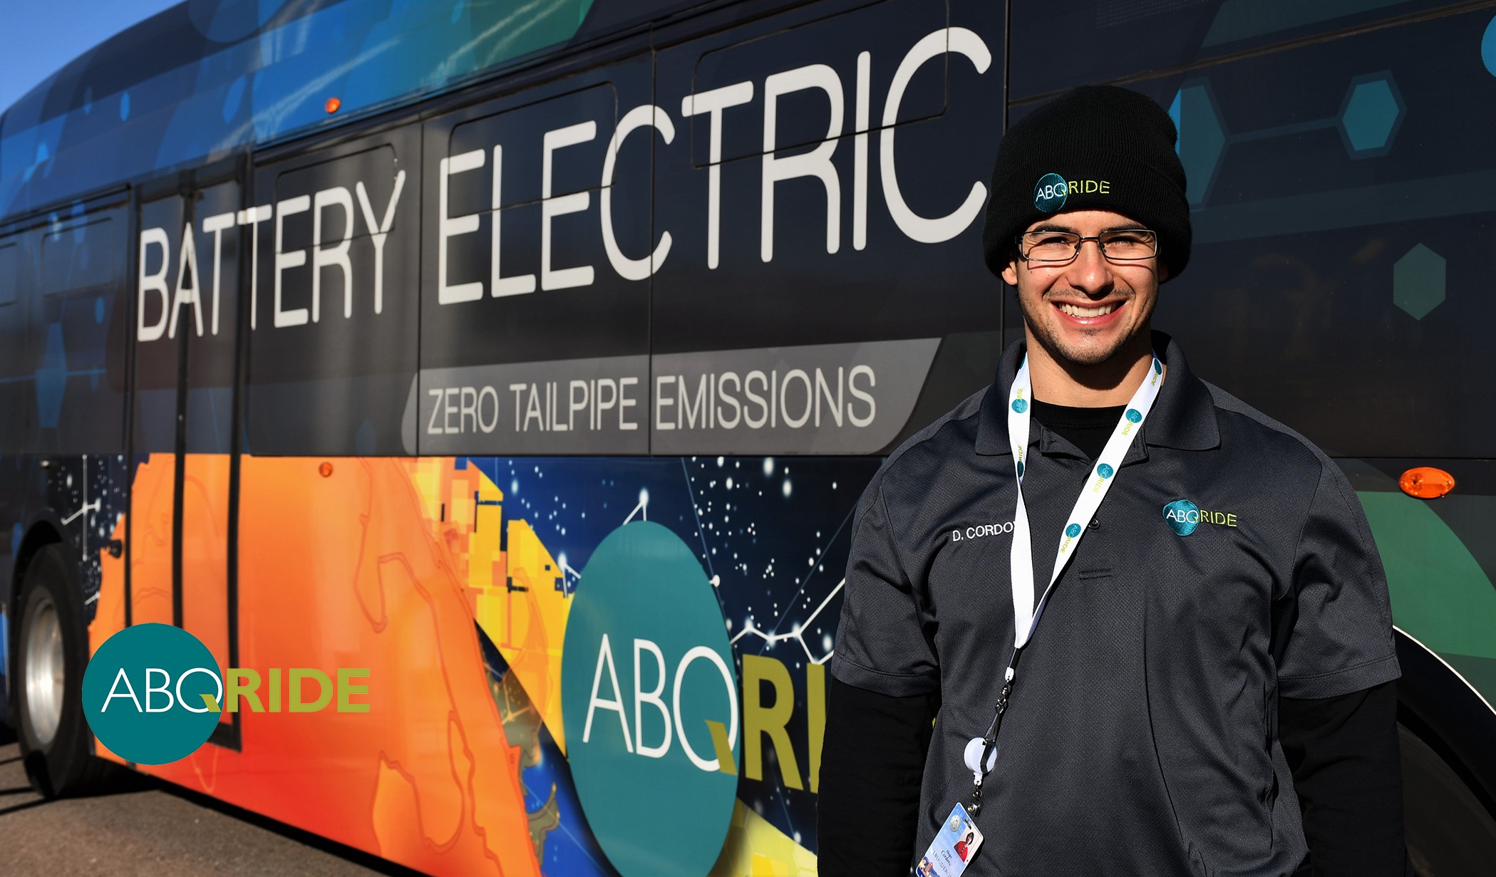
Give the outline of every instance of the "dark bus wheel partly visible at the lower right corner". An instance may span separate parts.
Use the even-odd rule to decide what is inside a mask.
[[[1487,874],[1496,862],[1496,819],[1439,753],[1402,724],[1403,832],[1417,877]]]

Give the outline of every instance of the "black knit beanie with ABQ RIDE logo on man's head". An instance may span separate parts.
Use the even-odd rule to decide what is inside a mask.
[[[1174,123],[1150,97],[1083,85],[1034,109],[1002,136],[981,247],[1001,274],[1032,223],[1071,210],[1110,210],[1158,232],[1168,277],[1189,262],[1185,168]]]

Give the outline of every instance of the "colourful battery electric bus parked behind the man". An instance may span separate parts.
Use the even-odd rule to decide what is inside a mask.
[[[1177,123],[1155,325],[1348,474],[1411,859],[1484,871],[1496,9],[1448,0],[188,0],[114,36],[0,117],[31,783],[136,769],[432,874],[814,874],[853,510],[1019,337],[992,159],[1085,82]],[[257,694],[159,766],[79,700],[145,623]],[[349,667],[367,709],[311,709],[298,669]]]

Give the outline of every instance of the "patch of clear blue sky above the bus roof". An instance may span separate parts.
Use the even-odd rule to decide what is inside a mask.
[[[0,112],[67,61],[180,0],[0,0]]]

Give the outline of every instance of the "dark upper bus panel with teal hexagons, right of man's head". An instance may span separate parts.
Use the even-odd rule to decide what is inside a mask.
[[[1188,272],[1155,325],[1331,455],[1490,456],[1493,10],[1137,87],[1189,172]]]

